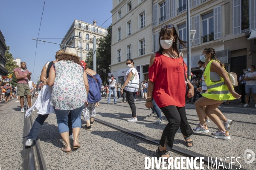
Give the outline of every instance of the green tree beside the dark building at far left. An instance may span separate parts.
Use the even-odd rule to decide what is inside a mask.
[[[18,65],[14,61],[14,58],[12,57],[12,53],[10,53],[10,47],[7,46],[7,50],[6,50],[6,70],[9,72],[9,75],[12,74],[12,85],[14,85],[14,86],[17,84],[17,79],[14,75],[13,70],[17,67],[18,67]]]

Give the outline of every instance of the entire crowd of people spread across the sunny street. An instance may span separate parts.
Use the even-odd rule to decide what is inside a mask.
[[[232,120],[227,119],[218,109],[223,101],[239,99],[241,95],[236,93],[230,78],[221,63],[217,59],[215,49],[205,48],[202,51],[198,66],[203,71],[202,79],[192,76],[187,77],[187,66],[183,60],[183,54],[178,51],[178,45],[185,47],[186,42],[181,40],[173,25],[163,25],[159,36],[159,50],[151,55],[148,68],[148,80],[140,82],[138,71],[134,67],[133,59],[127,59],[128,71],[124,77],[124,83],[116,82],[111,75],[108,83],[102,84],[102,80],[95,71],[80,61],[75,48],[66,48],[56,52],[55,60],[47,62],[41,72],[41,91],[34,105],[31,103],[31,95],[35,85],[29,81],[32,74],[26,69],[26,63],[21,62],[20,68],[15,68],[17,78],[17,95],[20,98],[21,112],[24,112],[24,96],[28,101],[29,109],[25,116],[37,108],[38,117],[27,136],[26,146],[31,146],[37,138],[39,130],[49,113],[55,113],[58,130],[64,140],[62,150],[71,153],[70,139],[73,139],[73,149],[81,147],[79,133],[81,129],[81,115],[84,117],[85,130],[92,130],[96,106],[102,96],[108,97],[107,104],[117,104],[117,99],[128,102],[131,108],[131,119],[128,122],[137,122],[136,97],[141,96],[145,100],[145,107],[152,109],[149,117],[157,116],[154,124],[162,124],[163,117],[168,123],[163,130],[160,145],[156,150],[157,157],[170,157],[167,151],[173,147],[175,134],[180,128],[187,147],[193,147],[191,136],[194,133],[209,133],[207,122],[210,120],[218,127],[211,136],[217,139],[229,140],[228,130]],[[255,66],[250,65],[244,69],[240,78],[242,93],[241,102],[249,104],[250,94],[256,97],[256,71]],[[6,84],[5,96],[8,96],[12,88]],[[7,93],[7,94],[6,94]],[[36,93],[34,93],[37,95]],[[104,94],[104,95],[103,95]],[[197,94],[200,98],[197,99]],[[186,117],[185,103],[195,104],[199,118],[199,124],[191,128]],[[192,101],[193,100],[193,101]],[[7,97],[8,101],[8,97]],[[256,107],[256,105],[255,105]],[[222,123],[222,122],[223,123]]]

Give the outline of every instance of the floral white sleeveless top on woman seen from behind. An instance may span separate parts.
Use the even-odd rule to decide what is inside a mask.
[[[52,86],[51,105],[59,110],[74,110],[84,105],[87,92],[84,85],[84,69],[73,61],[55,62],[56,78]]]

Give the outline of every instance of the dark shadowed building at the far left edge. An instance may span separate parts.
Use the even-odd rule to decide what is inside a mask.
[[[0,76],[6,76],[8,71],[6,70],[6,57],[5,51],[7,50],[5,39],[2,31],[0,30]]]

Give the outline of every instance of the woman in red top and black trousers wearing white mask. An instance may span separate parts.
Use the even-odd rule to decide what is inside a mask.
[[[183,56],[180,56],[177,42],[183,47],[184,41],[180,40],[173,25],[163,25],[160,31],[160,49],[151,55],[148,68],[148,97],[145,106],[153,107],[152,99],[163,111],[168,120],[168,124],[163,130],[160,146],[157,149],[157,156],[169,158],[167,151],[172,149],[175,133],[180,127],[181,133],[186,140],[188,147],[193,146],[189,136],[193,134],[185,111],[185,70],[186,64]],[[194,87],[190,81],[188,96],[194,96]]]

